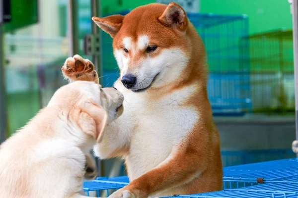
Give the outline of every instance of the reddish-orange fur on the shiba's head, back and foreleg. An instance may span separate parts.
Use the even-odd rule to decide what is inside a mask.
[[[145,198],[154,195],[172,196],[221,190],[223,170],[220,138],[207,96],[205,48],[197,31],[186,18],[185,11],[176,3],[170,3],[168,6],[152,3],[137,7],[126,16],[93,17],[92,20],[113,37],[114,51],[124,49],[124,38],[131,38],[134,45],[140,35],[148,35],[150,45],[158,46],[150,53],[144,49],[134,52],[128,50],[124,53],[124,56],[129,57],[128,71],[138,70],[142,59],[154,58],[164,49],[182,50],[188,62],[180,75],[170,83],[150,87],[147,90],[149,96],[146,97],[153,105],[176,91],[193,86],[195,91],[188,93],[187,100],[178,105],[191,107],[199,116],[188,135],[171,151],[171,158],[142,176],[134,178],[128,186],[111,197],[121,197],[126,191],[131,197]],[[119,81],[120,79],[118,84]],[[153,108],[152,105],[148,105],[148,108]],[[138,133],[137,130],[133,131]],[[131,149],[127,144],[110,153],[108,157],[128,157]],[[131,164],[126,161],[126,165],[129,167]],[[128,174],[131,175],[129,170]]]

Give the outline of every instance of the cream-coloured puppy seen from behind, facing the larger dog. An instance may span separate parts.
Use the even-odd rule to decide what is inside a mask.
[[[94,82],[61,87],[0,146],[0,197],[83,198],[84,175],[95,176],[88,152],[106,124],[122,114],[123,99],[116,89]]]

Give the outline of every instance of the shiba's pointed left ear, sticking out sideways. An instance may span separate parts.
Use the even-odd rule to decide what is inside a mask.
[[[96,23],[96,25],[98,25],[98,27],[100,27],[106,33],[110,34],[112,38],[114,38],[117,32],[120,30],[123,19],[124,16],[120,14],[103,18],[98,18],[96,16],[92,17],[92,20]]]

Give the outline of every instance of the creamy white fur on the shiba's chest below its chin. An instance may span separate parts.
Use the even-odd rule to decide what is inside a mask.
[[[132,124],[130,149],[125,159],[133,180],[171,157],[170,153],[198,121],[199,112],[183,105],[195,86],[176,90],[154,102],[147,92],[132,93],[121,84],[116,84],[116,88],[124,94],[125,116]]]

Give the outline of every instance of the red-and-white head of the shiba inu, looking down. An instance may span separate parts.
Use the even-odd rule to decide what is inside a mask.
[[[152,3],[125,16],[92,20],[113,38],[122,84],[133,92],[169,84],[187,66],[189,21],[177,3]]]

